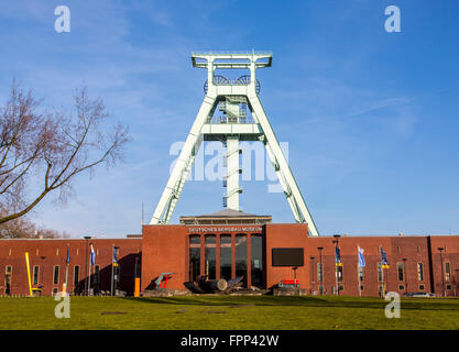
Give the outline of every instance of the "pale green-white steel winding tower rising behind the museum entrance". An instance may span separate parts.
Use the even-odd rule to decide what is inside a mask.
[[[153,213],[151,224],[170,222],[203,141],[221,141],[226,145],[227,175],[223,186],[227,187],[227,194],[223,204],[229,209],[240,211],[239,195],[242,190],[239,187],[239,141],[262,141],[296,222],[306,222],[310,235],[318,235],[259,99],[260,82],[255,73],[258,68],[270,67],[272,57],[272,53],[265,52],[192,54],[194,67],[207,68],[206,97]],[[250,75],[229,80],[216,75],[216,69],[245,69],[250,70]],[[217,108],[223,116],[216,121],[212,117]],[[250,121],[247,118],[247,109],[251,113]]]

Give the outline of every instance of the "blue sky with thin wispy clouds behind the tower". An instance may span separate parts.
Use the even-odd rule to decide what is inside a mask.
[[[54,31],[61,4],[70,33]],[[401,33],[384,30],[391,4]],[[0,101],[13,77],[50,108],[86,85],[132,136],[124,164],[30,217],[73,237],[140,233],[204,97],[190,52],[255,48],[273,52],[260,98],[320,233],[459,233],[458,20],[456,0],[2,0]],[[293,221],[266,182],[242,186],[244,211]],[[220,182],[187,184],[173,221],[220,210],[221,195]]]

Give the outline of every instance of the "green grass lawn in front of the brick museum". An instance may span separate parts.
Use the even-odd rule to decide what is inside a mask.
[[[0,298],[0,329],[459,329],[459,299],[317,296],[72,297],[57,319],[51,297]]]

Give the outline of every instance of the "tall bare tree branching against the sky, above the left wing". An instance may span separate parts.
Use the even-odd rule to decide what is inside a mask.
[[[0,224],[26,215],[54,190],[65,201],[74,176],[122,160],[127,128],[107,125],[102,99],[89,98],[86,88],[74,99],[74,113],[39,112],[41,101],[12,82],[0,108]]]

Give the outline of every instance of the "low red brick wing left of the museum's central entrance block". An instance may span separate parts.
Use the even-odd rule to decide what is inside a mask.
[[[96,253],[90,266],[90,246]],[[70,263],[67,266],[67,248]],[[29,295],[25,253],[29,253],[31,285],[42,295],[62,292],[81,294],[89,285],[96,293],[111,292],[112,252],[118,249],[119,273],[116,289],[133,293],[135,263],[141,265],[142,239],[23,239],[0,240],[0,295]],[[114,276],[114,275],[113,275]]]

